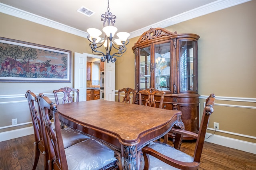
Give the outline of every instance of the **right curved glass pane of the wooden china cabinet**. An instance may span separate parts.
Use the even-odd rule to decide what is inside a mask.
[[[196,87],[196,42],[180,41],[180,92],[197,91]]]

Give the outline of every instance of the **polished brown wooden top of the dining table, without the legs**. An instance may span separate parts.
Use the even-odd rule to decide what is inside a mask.
[[[62,122],[74,128],[78,128],[76,125],[85,127],[78,130],[96,137],[107,134],[124,145],[137,145],[141,136],[165,127],[181,114],[181,111],[106,100],[60,104],[57,110]],[[161,133],[165,130],[162,128]],[[154,134],[159,135],[152,133],[150,138]]]

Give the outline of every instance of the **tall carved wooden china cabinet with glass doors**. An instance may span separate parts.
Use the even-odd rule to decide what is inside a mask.
[[[163,107],[182,111],[185,129],[198,133],[197,41],[193,33],[150,28],[135,43],[136,90],[164,90]]]

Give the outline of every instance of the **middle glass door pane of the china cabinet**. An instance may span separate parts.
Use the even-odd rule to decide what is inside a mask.
[[[170,43],[158,44],[155,48],[155,88],[170,90]]]

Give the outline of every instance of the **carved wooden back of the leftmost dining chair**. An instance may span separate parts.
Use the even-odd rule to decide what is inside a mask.
[[[35,103],[37,102],[37,97],[34,93],[32,93],[30,90],[28,90],[25,94],[25,97],[28,100],[28,106],[30,110],[30,115],[32,117],[32,124],[34,128],[34,136],[35,136],[35,155],[34,155],[34,164],[32,170],[36,169],[36,166],[38,164],[40,152],[44,155],[44,169],[48,170],[48,150],[44,147],[44,141],[43,141],[43,134],[42,134],[42,126],[40,122],[40,117],[37,113],[37,110],[35,108]]]

